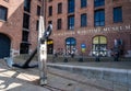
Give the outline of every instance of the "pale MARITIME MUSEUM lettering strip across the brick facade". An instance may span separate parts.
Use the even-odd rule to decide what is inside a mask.
[[[120,25],[120,26],[107,26],[107,27],[96,27],[96,29],[81,29],[78,31],[53,33],[53,36],[64,36],[64,35],[86,35],[90,33],[112,33],[112,32],[126,32],[131,31],[131,24]]]

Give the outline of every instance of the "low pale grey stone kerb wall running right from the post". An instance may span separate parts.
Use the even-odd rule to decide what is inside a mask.
[[[114,69],[114,68],[99,68],[99,67],[85,67],[85,66],[70,66],[70,65],[52,65],[49,67],[68,70],[74,73],[85,76],[87,78],[108,80],[114,83],[119,83],[124,87],[131,86],[131,70],[128,69]]]

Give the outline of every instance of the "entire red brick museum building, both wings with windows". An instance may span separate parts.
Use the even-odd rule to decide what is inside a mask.
[[[131,0],[44,0],[53,31],[48,53],[109,56],[115,45],[131,56]],[[37,46],[41,0],[0,0],[0,58]]]

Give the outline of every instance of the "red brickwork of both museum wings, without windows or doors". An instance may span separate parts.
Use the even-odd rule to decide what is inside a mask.
[[[131,1],[130,0],[105,0],[105,7],[102,8],[95,8],[94,9],[94,0],[87,0],[87,7],[84,9],[80,8],[80,0],[75,0],[75,27],[74,34],[71,34],[68,30],[68,0],[52,0],[51,2],[46,3],[45,8],[45,15],[46,15],[46,25],[48,24],[48,21],[52,21],[53,25],[53,33],[51,35],[51,39],[53,39],[53,49],[57,48],[66,48],[66,38],[67,37],[74,37],[76,39],[76,48],[79,53],[81,52],[81,44],[85,43],[87,48],[85,55],[88,55],[92,50],[92,39],[96,35],[104,35],[107,37],[107,49],[110,49],[114,46],[114,39],[115,38],[122,38],[124,42],[124,52],[131,50],[131,32],[130,30],[122,30],[122,32],[93,32],[93,33],[85,33],[85,34],[79,34],[78,32],[88,31],[94,27],[94,11],[97,9],[105,9],[105,27],[109,26],[124,26],[124,25],[131,25]],[[22,29],[23,29],[23,2],[24,0],[21,0],[17,2],[17,0],[9,0],[9,2],[5,2],[4,0],[0,0],[0,4],[8,8],[8,20],[0,21],[0,33],[5,34],[11,39],[11,49],[14,49],[20,52],[20,44],[22,42]],[[36,31],[36,21],[38,20],[38,16],[36,15],[37,11],[37,4],[40,5],[41,3],[32,0],[31,1],[31,22],[29,22],[29,43],[32,44],[29,46],[29,50],[32,52],[36,47],[37,43],[37,31]],[[57,13],[57,5],[59,2],[62,2],[62,13]],[[52,16],[48,16],[48,7],[52,5]],[[122,18],[123,21],[121,23],[114,23],[112,22],[112,9],[116,7],[122,7]],[[81,27],[80,26],[80,19],[82,13],[87,13],[87,26]],[[57,19],[62,19],[62,30],[57,30]]]

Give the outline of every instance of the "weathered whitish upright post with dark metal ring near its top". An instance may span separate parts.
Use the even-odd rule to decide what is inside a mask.
[[[44,26],[44,18],[39,18],[39,31],[38,31],[38,67],[39,67],[39,77],[40,86],[47,84],[47,39],[50,36],[52,31],[52,25],[49,24],[47,30]]]

